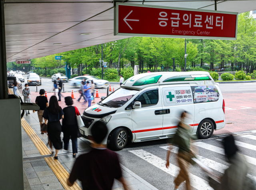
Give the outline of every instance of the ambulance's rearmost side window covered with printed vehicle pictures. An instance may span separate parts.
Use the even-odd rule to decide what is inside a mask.
[[[191,86],[194,103],[216,102],[220,94],[216,86]]]

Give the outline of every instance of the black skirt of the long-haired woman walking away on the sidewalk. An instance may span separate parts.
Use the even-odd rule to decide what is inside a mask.
[[[60,138],[61,124],[60,121],[48,122],[48,135],[55,149],[62,149],[62,140]]]

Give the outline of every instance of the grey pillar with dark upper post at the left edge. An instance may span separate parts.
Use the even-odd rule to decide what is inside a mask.
[[[0,189],[24,189],[20,98],[8,95],[4,0],[0,0]]]

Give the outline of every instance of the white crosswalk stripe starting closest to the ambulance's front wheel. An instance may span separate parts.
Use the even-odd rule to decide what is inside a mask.
[[[166,161],[149,153],[145,150],[129,150],[129,152],[135,154],[136,156],[142,158],[143,160],[146,160],[150,164],[156,166],[157,168],[163,170],[164,172],[176,177],[180,171],[180,168],[178,166],[175,166],[170,163],[169,169],[165,167]],[[209,190],[212,189],[208,182],[206,180],[203,180],[202,178],[199,178],[198,176],[195,176],[194,174],[190,174],[190,181],[191,186],[198,189],[198,190]]]

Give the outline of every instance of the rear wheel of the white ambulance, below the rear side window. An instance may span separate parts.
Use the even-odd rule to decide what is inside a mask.
[[[202,120],[197,128],[197,134],[200,139],[206,139],[212,136],[214,125],[211,120]]]

